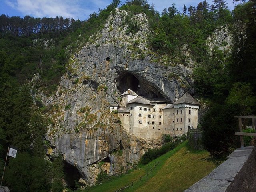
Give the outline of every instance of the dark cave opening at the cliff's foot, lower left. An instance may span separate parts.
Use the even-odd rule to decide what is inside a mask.
[[[78,169],[75,166],[64,162],[64,180],[68,188],[76,189],[76,183],[81,178]]]

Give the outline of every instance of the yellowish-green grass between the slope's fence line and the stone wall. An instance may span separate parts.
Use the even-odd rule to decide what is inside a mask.
[[[162,168],[136,192],[182,192],[209,174],[216,166],[213,162],[202,160],[208,157],[207,151],[195,151],[188,143],[170,156]]]

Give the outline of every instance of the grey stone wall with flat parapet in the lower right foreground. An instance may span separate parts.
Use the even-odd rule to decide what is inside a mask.
[[[253,146],[235,150],[225,162],[184,192],[244,191],[256,191],[256,150]]]

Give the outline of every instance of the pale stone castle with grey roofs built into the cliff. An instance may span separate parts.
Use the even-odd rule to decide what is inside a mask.
[[[128,89],[122,95],[121,108],[111,105],[110,111],[118,111],[123,127],[145,139],[162,134],[177,136],[198,127],[200,104],[185,93],[173,104],[166,100],[147,99]]]

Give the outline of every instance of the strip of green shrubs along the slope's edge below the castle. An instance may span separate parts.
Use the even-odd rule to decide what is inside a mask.
[[[159,156],[167,153],[168,151],[174,149],[178,144],[186,140],[186,136],[178,136],[177,138],[173,138],[172,142],[164,144],[161,148],[159,149],[148,149],[142,158],[140,159],[141,164],[147,164],[151,162],[152,160],[158,158]]]

